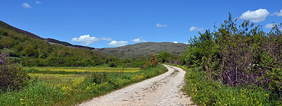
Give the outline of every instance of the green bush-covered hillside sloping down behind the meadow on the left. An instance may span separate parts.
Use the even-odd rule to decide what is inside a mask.
[[[86,67],[108,64],[108,58],[113,60],[86,49],[87,47],[63,46],[60,43],[69,43],[49,40],[57,44],[51,44],[39,36],[0,22],[0,52],[6,52],[12,61],[23,66]]]

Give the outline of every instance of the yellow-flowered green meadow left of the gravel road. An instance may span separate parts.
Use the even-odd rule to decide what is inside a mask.
[[[24,90],[0,94],[0,105],[75,105],[167,71],[139,68],[24,67]]]

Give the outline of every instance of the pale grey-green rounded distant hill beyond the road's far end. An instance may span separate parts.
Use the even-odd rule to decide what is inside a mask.
[[[157,55],[160,51],[168,51],[170,54],[181,55],[186,50],[187,44],[171,42],[145,42],[125,45],[114,48],[96,48],[95,51],[103,54],[117,56],[119,58],[132,58],[137,56]]]

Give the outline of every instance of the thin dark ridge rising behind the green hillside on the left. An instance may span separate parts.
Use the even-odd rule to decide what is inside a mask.
[[[18,28],[15,28],[14,26],[11,26],[9,25],[8,23],[5,23],[3,21],[0,20],[0,26],[4,29],[9,29],[9,30],[13,30],[13,31],[16,31],[16,32],[19,32],[19,33],[24,33],[24,34],[27,34],[33,38],[36,38],[36,39],[40,39],[40,40],[45,40],[45,41],[48,41],[50,43],[55,43],[55,44],[61,44],[61,45],[64,45],[64,46],[68,46],[68,47],[75,47],[75,48],[87,48],[87,49],[90,49],[90,50],[93,50],[95,49],[94,47],[88,47],[88,46],[81,46],[81,45],[72,45],[68,42],[63,42],[63,41],[59,41],[59,40],[55,40],[55,39],[51,39],[51,38],[41,38],[35,34],[32,34],[30,32],[27,32],[27,31],[24,31],[24,30],[21,30],[21,29],[18,29]]]

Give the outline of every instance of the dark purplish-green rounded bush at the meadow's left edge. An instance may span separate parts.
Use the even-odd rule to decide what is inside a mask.
[[[0,93],[19,90],[28,83],[29,76],[0,53]]]

